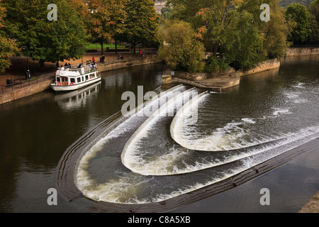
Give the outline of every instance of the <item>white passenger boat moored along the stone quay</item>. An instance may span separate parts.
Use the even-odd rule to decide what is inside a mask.
[[[69,92],[101,81],[101,72],[96,67],[86,65],[60,67],[55,73],[51,88],[55,92]]]

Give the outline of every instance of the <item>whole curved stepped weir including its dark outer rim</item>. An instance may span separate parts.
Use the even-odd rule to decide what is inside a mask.
[[[228,106],[240,101],[218,103],[228,93],[169,89],[132,117],[116,115],[77,140],[60,161],[57,189],[68,200],[83,194],[98,201],[93,211],[162,212],[247,182],[319,146],[318,87],[304,95],[298,89],[289,87],[284,102],[281,96],[237,113]],[[185,102],[193,91],[200,94]]]

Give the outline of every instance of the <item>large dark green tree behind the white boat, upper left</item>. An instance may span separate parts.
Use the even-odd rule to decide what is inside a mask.
[[[76,1],[76,0],[72,0]],[[44,62],[79,59],[86,52],[82,16],[67,0],[3,0],[6,31],[25,55]],[[57,5],[57,21],[49,21],[49,4]]]

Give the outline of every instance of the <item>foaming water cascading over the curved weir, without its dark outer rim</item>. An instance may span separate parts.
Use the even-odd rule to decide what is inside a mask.
[[[241,86],[193,102],[181,102],[186,87],[159,96],[162,106],[151,116],[128,118],[79,160],[77,187],[96,201],[150,204],[228,179],[319,137],[318,79],[276,89],[256,82],[252,94],[241,94]],[[170,100],[183,105],[172,107]],[[174,116],[167,116],[172,108]]]

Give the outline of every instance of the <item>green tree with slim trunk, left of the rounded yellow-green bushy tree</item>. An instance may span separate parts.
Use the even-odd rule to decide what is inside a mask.
[[[139,44],[155,43],[159,18],[152,0],[127,0],[125,10],[125,39],[132,45],[133,52]]]

